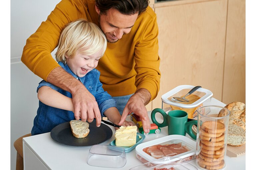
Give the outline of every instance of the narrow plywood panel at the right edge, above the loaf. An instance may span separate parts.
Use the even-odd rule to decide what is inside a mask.
[[[223,103],[245,103],[245,0],[228,1]]]

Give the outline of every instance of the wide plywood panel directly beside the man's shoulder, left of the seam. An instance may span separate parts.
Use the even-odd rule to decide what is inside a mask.
[[[170,2],[171,3],[171,2]],[[161,96],[182,84],[201,85],[222,99],[227,0],[155,8],[161,58]]]

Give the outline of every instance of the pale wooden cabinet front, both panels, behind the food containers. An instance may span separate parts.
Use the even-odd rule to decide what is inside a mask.
[[[183,84],[209,89],[224,103],[245,102],[245,23],[235,22],[238,15],[245,15],[245,7],[228,0],[167,1],[153,7],[159,27],[161,81],[158,96],[147,109],[161,108],[161,96]],[[230,16],[228,7],[235,8]],[[234,42],[232,37],[240,31]],[[234,76],[236,72],[240,74]],[[238,79],[241,85],[234,86]]]

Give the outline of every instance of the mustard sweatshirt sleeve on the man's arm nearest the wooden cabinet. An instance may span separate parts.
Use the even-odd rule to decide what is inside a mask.
[[[137,89],[145,88],[156,98],[160,88],[160,58],[158,56],[158,26],[156,15],[144,28],[140,42],[135,46],[135,85]]]

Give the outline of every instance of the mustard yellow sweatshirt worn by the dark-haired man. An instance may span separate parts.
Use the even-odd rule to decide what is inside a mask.
[[[59,64],[51,56],[64,27],[84,18],[98,25],[94,0],[62,0],[24,46],[21,61],[36,75],[47,79]],[[148,7],[138,16],[131,32],[116,43],[107,43],[97,69],[100,81],[112,96],[129,95],[145,88],[153,100],[160,86],[156,14]]]

